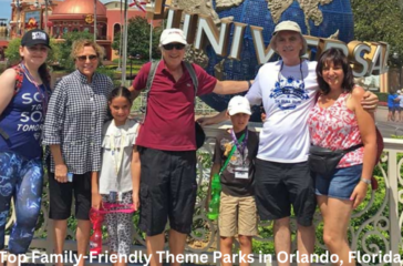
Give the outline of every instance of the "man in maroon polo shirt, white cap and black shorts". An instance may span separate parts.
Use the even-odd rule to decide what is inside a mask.
[[[136,141],[142,161],[140,228],[147,234],[152,266],[162,264],[156,252],[164,249],[167,218],[170,254],[184,253],[196,202],[195,89],[183,63],[186,44],[182,30],[163,31],[163,60],[155,72],[146,119]],[[199,65],[193,68],[198,80],[197,95],[249,89],[249,81],[218,81]],[[151,63],[140,70],[131,88],[134,98],[146,88],[149,70]]]

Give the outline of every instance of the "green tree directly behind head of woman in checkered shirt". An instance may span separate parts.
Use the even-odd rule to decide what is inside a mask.
[[[73,42],[81,39],[93,40],[94,35],[86,31],[68,32],[63,34],[64,42],[60,43],[60,65],[68,72],[74,70],[74,61],[70,57]]]

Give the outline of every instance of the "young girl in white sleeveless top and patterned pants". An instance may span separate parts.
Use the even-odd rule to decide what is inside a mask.
[[[103,204],[122,204],[123,208],[140,206],[140,156],[135,145],[138,123],[128,120],[131,92],[120,86],[112,91],[108,108],[113,120],[102,131],[102,168],[100,178],[92,178],[92,207]],[[114,211],[118,209],[113,208]],[[107,211],[111,211],[107,208]],[[130,255],[132,244],[132,216],[128,212],[113,212],[105,215],[110,253]],[[124,260],[118,265],[124,265]]]

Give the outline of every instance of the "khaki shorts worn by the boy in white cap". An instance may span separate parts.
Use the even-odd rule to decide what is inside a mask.
[[[254,196],[231,196],[221,192],[219,204],[219,235],[232,237],[237,234],[255,236],[257,229],[257,211]]]

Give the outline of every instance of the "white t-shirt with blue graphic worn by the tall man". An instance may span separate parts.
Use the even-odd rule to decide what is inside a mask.
[[[319,89],[316,68],[317,62],[308,60],[294,66],[280,60],[260,68],[246,94],[251,105],[262,103],[267,115],[259,136],[258,158],[278,163],[308,160],[307,121]]]

